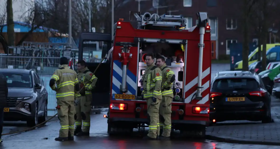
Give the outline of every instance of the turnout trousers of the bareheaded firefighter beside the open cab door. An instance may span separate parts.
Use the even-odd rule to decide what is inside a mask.
[[[82,131],[87,133],[90,130],[90,111],[91,111],[91,100],[92,95],[87,94],[85,96],[77,97],[79,104],[76,105],[76,116],[77,119],[75,121],[76,128],[82,126]]]

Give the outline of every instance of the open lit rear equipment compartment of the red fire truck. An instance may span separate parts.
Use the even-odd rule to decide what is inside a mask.
[[[173,89],[173,102],[183,102],[183,76],[184,76],[184,56],[185,44],[170,44],[158,42],[141,42],[139,47],[139,71],[138,80],[141,80],[145,68],[145,54],[152,53],[156,58],[165,57],[166,65],[175,73],[175,81],[172,85]],[[137,95],[141,96],[141,84],[138,83]]]

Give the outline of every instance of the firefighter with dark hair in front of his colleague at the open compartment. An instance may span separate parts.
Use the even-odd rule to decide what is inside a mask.
[[[162,100],[162,75],[160,68],[154,64],[153,54],[146,54],[145,61],[147,67],[141,79],[141,84],[143,84],[143,99],[147,101],[150,125],[148,135],[143,139],[156,140],[158,136],[157,128],[159,127],[159,107]]]

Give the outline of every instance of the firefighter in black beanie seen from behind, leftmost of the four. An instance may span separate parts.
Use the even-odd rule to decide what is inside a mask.
[[[74,140],[74,114],[75,103],[74,93],[78,91],[77,73],[68,68],[66,57],[60,58],[60,67],[55,70],[50,80],[50,87],[56,91],[57,116],[60,120],[61,128],[56,141]]]

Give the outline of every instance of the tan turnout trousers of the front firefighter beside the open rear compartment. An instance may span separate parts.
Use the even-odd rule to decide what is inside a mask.
[[[146,99],[146,101],[147,101],[148,115],[150,117],[148,136],[150,138],[157,138],[157,135],[159,135],[159,132],[157,131],[159,127],[159,106],[161,100],[157,99],[156,102],[153,102],[152,98],[148,98]]]

